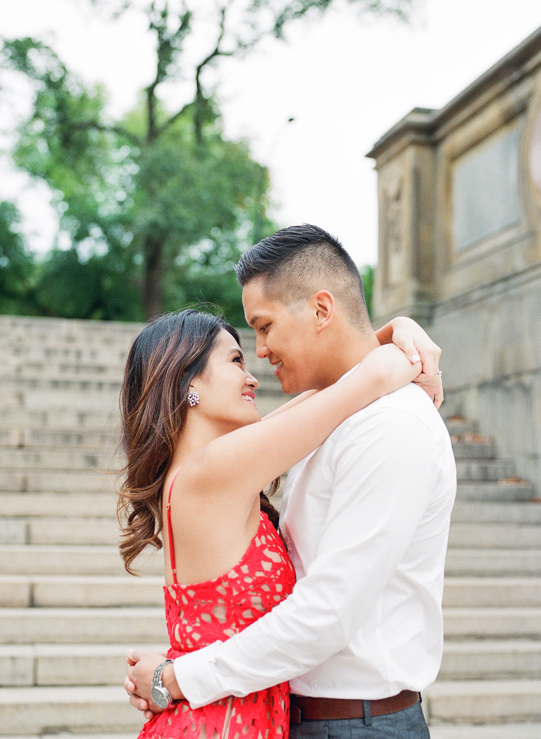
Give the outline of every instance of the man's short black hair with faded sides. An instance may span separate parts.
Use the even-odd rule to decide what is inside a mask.
[[[340,241],[323,228],[303,223],[267,236],[251,246],[235,265],[242,287],[263,278],[266,296],[285,305],[328,290],[355,327],[370,327],[359,270]]]

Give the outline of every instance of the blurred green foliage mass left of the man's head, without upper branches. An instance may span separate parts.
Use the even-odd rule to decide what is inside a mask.
[[[53,250],[40,265],[35,310],[141,320],[148,242],[157,241],[164,309],[209,302],[242,325],[232,265],[242,248],[272,233],[265,213],[269,180],[246,143],[224,139],[213,101],[206,101],[204,146],[193,136],[190,106],[148,142],[144,104],[107,125],[103,90],[85,89],[52,50],[24,39],[7,42],[4,55],[36,84],[15,162],[52,188],[61,228],[72,240],[72,248]],[[165,110],[156,105],[155,114],[163,126]],[[198,251],[202,241],[212,248]]]

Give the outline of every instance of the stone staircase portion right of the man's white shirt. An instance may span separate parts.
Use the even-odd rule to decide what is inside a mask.
[[[444,658],[424,694],[430,733],[539,739],[541,501],[475,424],[455,417],[447,428],[458,491],[446,561]]]

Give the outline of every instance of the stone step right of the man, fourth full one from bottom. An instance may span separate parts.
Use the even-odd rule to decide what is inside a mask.
[[[539,577],[446,577],[444,607],[540,607]]]

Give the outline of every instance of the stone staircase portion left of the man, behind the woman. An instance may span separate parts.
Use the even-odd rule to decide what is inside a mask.
[[[120,735],[144,721],[121,687],[125,650],[167,648],[163,559],[125,573],[117,478],[103,472],[122,466],[118,395],[141,328],[0,316],[0,735]],[[250,366],[269,412],[280,385],[268,363]]]

